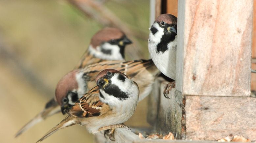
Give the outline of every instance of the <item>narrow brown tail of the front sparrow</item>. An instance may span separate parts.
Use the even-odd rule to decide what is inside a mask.
[[[55,127],[53,127],[50,131],[48,131],[46,134],[43,135],[42,138],[40,138],[37,142],[41,142],[44,139],[46,139],[48,136],[52,135],[53,133],[55,133],[56,131],[63,129],[65,127],[69,127],[72,125],[75,125],[76,122],[74,120],[73,116],[66,116],[64,120],[62,120],[58,125],[56,125]]]

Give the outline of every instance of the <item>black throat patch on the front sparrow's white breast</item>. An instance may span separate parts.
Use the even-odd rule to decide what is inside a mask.
[[[119,100],[126,100],[126,98],[129,97],[127,92],[121,91],[119,87],[116,86],[115,84],[108,84],[105,87],[104,92],[118,98]]]

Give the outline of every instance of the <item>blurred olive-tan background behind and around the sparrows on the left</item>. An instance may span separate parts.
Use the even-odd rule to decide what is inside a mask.
[[[149,0],[105,0],[102,5],[148,36]],[[102,24],[65,0],[0,0],[1,143],[36,142],[64,118],[59,113],[14,138],[53,97],[59,79],[74,68],[89,46],[90,37],[101,28]],[[148,58],[147,40],[138,42],[143,58]],[[129,48],[132,46],[126,50]],[[128,55],[127,60],[131,59]],[[126,125],[149,126],[146,103],[147,98],[139,103]],[[93,142],[93,135],[76,125],[43,142]]]

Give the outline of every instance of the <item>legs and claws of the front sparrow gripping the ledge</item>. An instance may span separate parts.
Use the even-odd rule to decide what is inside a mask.
[[[131,131],[131,129],[129,127],[125,126],[123,123],[101,127],[101,128],[98,129],[98,131],[99,132],[104,131],[104,136],[105,137],[107,135],[107,136],[109,136],[109,139],[111,141],[115,141],[114,133],[115,133],[116,128],[125,128],[125,129],[129,129]]]

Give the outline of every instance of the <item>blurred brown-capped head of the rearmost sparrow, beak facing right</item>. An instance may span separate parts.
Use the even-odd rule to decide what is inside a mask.
[[[90,42],[90,54],[105,60],[123,60],[124,48],[131,44],[126,35],[116,28],[104,28],[98,31]]]

